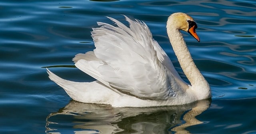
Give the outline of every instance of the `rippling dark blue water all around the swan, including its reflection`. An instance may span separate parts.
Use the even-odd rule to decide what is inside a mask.
[[[2,0],[0,10],[1,134],[256,134],[254,0]],[[69,68],[72,58],[94,49],[90,31],[97,21],[124,21],[124,14],[146,22],[187,81],[166,35],[173,12],[185,12],[198,24],[201,42],[187,33],[184,38],[212,100],[160,108],[83,104],[42,68],[54,66],[50,70],[68,80],[93,81]]]

